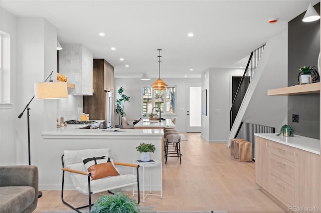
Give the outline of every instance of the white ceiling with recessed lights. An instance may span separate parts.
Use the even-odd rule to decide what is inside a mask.
[[[319,1],[0,0],[0,7],[17,17],[44,17],[62,46],[83,44],[114,66],[116,78],[158,78],[157,49],[163,50],[161,78],[200,78],[209,68],[246,66],[244,58],[286,30],[310,2]],[[270,18],[278,22],[269,24]]]

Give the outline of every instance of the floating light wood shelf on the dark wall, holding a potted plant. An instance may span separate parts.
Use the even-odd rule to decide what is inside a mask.
[[[320,92],[320,82],[313,84],[303,84],[291,87],[283,87],[271,89],[267,91],[267,95],[302,95]]]

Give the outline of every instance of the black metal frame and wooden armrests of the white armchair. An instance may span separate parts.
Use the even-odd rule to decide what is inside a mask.
[[[62,186],[61,186],[61,200],[64,204],[68,205],[69,207],[71,207],[72,209],[74,209],[75,211],[79,212],[79,213],[82,213],[79,209],[82,209],[82,208],[86,208],[86,207],[89,207],[89,212],[91,210],[91,206],[93,206],[95,203],[91,203],[91,194],[93,194],[93,192],[91,191],[90,189],[90,176],[91,176],[91,173],[90,172],[85,172],[85,171],[79,171],[79,170],[75,170],[75,169],[69,169],[69,168],[66,168],[65,167],[65,164],[64,164],[64,155],[61,156],[61,162],[62,162]],[[114,162],[115,165],[121,165],[121,166],[130,166],[130,167],[135,167],[136,168],[136,172],[137,172],[137,194],[138,194],[138,202],[140,202],[140,191],[139,191],[139,176],[138,176],[138,168],[139,168],[139,165],[138,164],[131,164],[131,163],[121,163],[121,162]],[[71,205],[70,203],[66,202],[64,200],[64,179],[65,179],[65,171],[68,171],[68,172],[74,172],[74,173],[78,173],[78,174],[83,174],[83,175],[86,175],[88,176],[88,202],[89,204],[88,205],[84,205],[84,206],[80,206],[80,207],[75,207],[73,205]],[[127,184],[127,185],[133,185],[133,184]],[[127,185],[121,185],[121,186],[117,186],[117,187],[112,187],[112,188],[106,188],[106,189],[103,189],[101,191],[98,191],[98,192],[102,192],[102,191],[108,191],[109,190],[112,190],[112,189],[116,189],[116,188],[121,188],[121,187],[124,187],[124,186],[127,186]],[[96,192],[96,193],[98,193]]]

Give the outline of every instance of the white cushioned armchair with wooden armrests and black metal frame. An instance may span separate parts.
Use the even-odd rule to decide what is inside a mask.
[[[75,211],[81,213],[79,209],[89,207],[89,212],[91,206],[91,194],[99,193],[102,191],[109,191],[112,189],[122,188],[129,185],[137,185],[138,203],[140,201],[139,197],[139,177],[138,177],[138,167],[137,164],[131,163],[120,163],[113,162],[116,169],[117,165],[120,166],[130,166],[136,168],[136,175],[134,174],[119,174],[117,176],[110,176],[101,179],[91,179],[91,173],[85,167],[82,158],[87,157],[98,157],[102,155],[109,155],[110,148],[101,149],[84,149],[84,150],[65,150],[61,156],[62,161],[62,189],[61,189],[61,200],[64,204],[68,205]],[[111,158],[111,157],[110,157]],[[71,180],[75,188],[82,194],[88,195],[88,205],[81,207],[72,206],[70,203],[64,200],[64,180],[65,172],[70,173]]]

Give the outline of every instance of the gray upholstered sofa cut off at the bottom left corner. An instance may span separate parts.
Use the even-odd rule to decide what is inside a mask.
[[[38,168],[0,166],[0,212],[32,212],[38,202]]]

